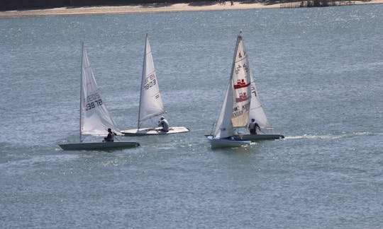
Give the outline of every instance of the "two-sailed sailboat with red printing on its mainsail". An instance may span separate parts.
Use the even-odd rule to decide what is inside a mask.
[[[212,136],[207,136],[211,148],[240,147],[250,141],[235,137],[235,128],[247,127],[250,111],[250,69],[248,55],[239,34],[235,45],[231,76],[226,88],[221,112]]]

